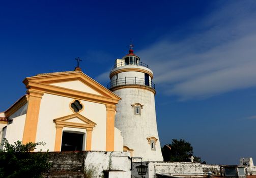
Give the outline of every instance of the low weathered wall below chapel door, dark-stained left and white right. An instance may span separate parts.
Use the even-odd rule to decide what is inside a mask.
[[[103,177],[107,172],[109,178],[130,178],[129,156],[127,152],[49,152],[53,166],[45,177]]]

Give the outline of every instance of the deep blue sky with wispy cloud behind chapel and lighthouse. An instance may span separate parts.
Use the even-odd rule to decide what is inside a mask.
[[[183,138],[202,161],[256,159],[255,1],[1,1],[0,111],[38,73],[84,73],[106,86],[134,52],[154,72],[161,145]],[[255,160],[256,161],[256,160]]]

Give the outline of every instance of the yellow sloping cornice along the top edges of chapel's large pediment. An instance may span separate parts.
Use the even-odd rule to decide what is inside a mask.
[[[113,94],[112,92],[107,90],[104,86],[99,84],[97,81],[93,80],[86,74],[82,72],[77,72],[77,71],[59,72],[59,73],[51,73],[51,74],[43,74],[43,75],[37,75],[33,77],[27,77],[23,80],[23,83],[26,85],[26,88],[29,88],[31,82],[39,82],[39,83],[45,83],[49,85],[50,83],[74,81],[74,80],[79,80],[83,82],[84,84],[90,86],[93,90],[97,91],[98,93],[105,96],[106,98],[111,98],[114,100],[121,99],[116,94]],[[60,88],[63,88],[63,87],[60,87]],[[75,91],[75,90],[72,90],[72,91]],[[85,93],[85,92],[82,92],[82,93]]]

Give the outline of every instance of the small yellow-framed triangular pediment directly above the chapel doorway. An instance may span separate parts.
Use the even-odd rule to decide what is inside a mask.
[[[74,128],[93,128],[96,125],[96,123],[82,116],[79,113],[55,118],[53,121],[57,126],[59,125],[62,127],[66,126],[66,127],[74,127]]]

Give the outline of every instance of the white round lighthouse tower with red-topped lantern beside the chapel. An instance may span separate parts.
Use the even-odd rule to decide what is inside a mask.
[[[109,90],[122,98],[117,105],[115,127],[124,138],[124,151],[143,161],[163,161],[157,132],[155,84],[149,66],[133,53],[117,59],[110,71]]]

